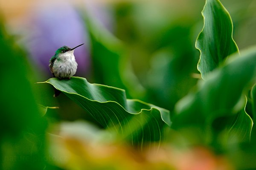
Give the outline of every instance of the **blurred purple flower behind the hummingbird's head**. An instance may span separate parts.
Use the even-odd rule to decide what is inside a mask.
[[[40,3],[41,1],[38,1]],[[88,75],[90,67],[89,41],[84,21],[72,4],[67,1],[35,8],[30,23],[31,32],[27,42],[29,52],[43,71],[50,74],[49,59],[63,45],[75,47],[85,45],[74,51],[78,69],[75,76]]]

